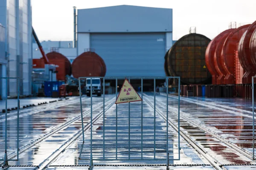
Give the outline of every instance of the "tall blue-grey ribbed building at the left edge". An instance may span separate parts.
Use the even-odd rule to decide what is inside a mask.
[[[0,1],[0,75],[20,77],[20,95],[30,95],[32,87],[32,8],[30,0]],[[4,30],[4,33],[3,33]],[[6,83],[1,80],[0,96]],[[17,82],[8,82],[8,96],[17,96]]]

